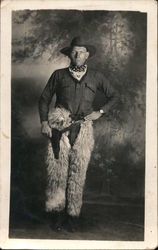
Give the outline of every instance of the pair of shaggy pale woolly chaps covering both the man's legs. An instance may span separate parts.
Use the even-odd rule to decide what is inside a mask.
[[[56,108],[49,117],[50,126],[59,130],[68,127],[71,122],[69,114],[63,108]],[[86,172],[94,146],[92,122],[85,121],[81,124],[72,147],[68,133],[62,134],[59,159],[54,157],[51,142],[48,142],[46,211],[60,212],[66,209],[69,215],[79,216]]]

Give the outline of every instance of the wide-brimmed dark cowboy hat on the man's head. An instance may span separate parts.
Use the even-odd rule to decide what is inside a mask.
[[[89,56],[94,56],[95,52],[96,52],[96,48],[93,45],[87,44],[83,38],[81,38],[80,36],[74,37],[72,39],[72,42],[70,44],[69,47],[65,47],[63,49],[60,50],[61,53],[63,53],[66,56],[70,55],[70,52],[72,50],[72,47],[74,46],[79,46],[79,47],[85,47],[87,49],[87,51],[89,52]]]

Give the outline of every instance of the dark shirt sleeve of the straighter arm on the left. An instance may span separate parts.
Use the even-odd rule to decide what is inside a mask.
[[[53,95],[56,92],[56,85],[57,76],[56,72],[54,72],[49,78],[48,83],[39,99],[39,115],[41,122],[48,121],[49,105],[52,101]]]

